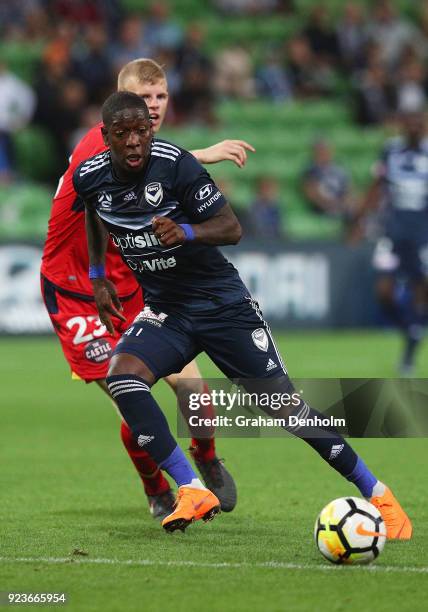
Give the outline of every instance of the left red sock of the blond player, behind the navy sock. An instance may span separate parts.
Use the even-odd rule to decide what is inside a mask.
[[[120,436],[126,452],[143,482],[146,495],[160,495],[168,491],[170,488],[169,482],[149,453],[138,446],[125,421],[122,421]]]

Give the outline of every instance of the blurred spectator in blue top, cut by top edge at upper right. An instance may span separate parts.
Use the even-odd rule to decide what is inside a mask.
[[[336,32],[342,65],[351,70],[361,68],[367,35],[364,9],[360,4],[357,2],[345,4]]]

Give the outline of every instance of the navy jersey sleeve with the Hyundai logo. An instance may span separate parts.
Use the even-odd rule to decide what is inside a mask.
[[[209,219],[226,204],[226,198],[208,172],[187,153],[177,162],[175,192],[191,221]]]

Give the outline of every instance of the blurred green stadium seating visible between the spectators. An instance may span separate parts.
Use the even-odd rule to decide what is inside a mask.
[[[122,0],[127,12],[144,12],[150,3],[140,0]],[[282,43],[298,31],[308,11],[316,4],[314,0],[298,0],[291,14],[219,17],[214,3],[199,0],[171,0],[169,5],[174,19],[185,25],[200,20],[206,32],[206,51],[213,55],[231,40],[251,47],[257,58],[268,41],[269,45]],[[339,8],[338,0],[329,0],[331,11]],[[412,13],[406,2],[399,2],[406,13]],[[15,42],[0,47],[8,65],[16,74],[32,83],[38,62],[42,56],[42,44]],[[227,181],[231,202],[245,209],[253,193],[255,181],[263,174],[270,174],[280,181],[281,205],[283,208],[283,234],[290,240],[338,239],[342,234],[337,219],[320,218],[310,212],[299,187],[301,172],[305,167],[309,148],[318,135],[328,134],[341,163],[350,172],[357,191],[361,191],[370,179],[372,164],[384,139],[382,128],[356,127],[351,116],[346,87],[338,86],[339,96],[334,99],[292,100],[275,104],[268,100],[227,100],[216,106],[218,126],[209,128],[186,125],[164,128],[162,136],[187,148],[200,148],[209,142],[227,137],[239,137],[251,142],[257,154],[250,156],[245,170],[230,163],[212,167],[218,180]],[[51,136],[42,127],[30,125],[14,135],[15,158],[19,183],[4,188],[1,210],[5,202],[19,202],[16,214],[9,215],[9,226],[2,230],[10,235],[24,236],[30,226],[43,237],[50,195],[54,186],[36,187],[45,183],[49,168],[54,162]],[[27,182],[29,181],[28,185]],[[29,207],[27,195],[35,194],[34,207]],[[15,193],[15,195],[12,195]],[[31,210],[30,210],[31,209]],[[37,210],[39,213],[37,213]],[[25,222],[21,215],[25,213]],[[38,216],[39,214],[39,216]],[[30,220],[30,221],[29,221]]]

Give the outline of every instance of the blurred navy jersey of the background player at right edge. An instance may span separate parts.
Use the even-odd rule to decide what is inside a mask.
[[[393,238],[428,230],[428,141],[410,148],[402,139],[385,147],[377,174],[386,189],[386,229]]]

